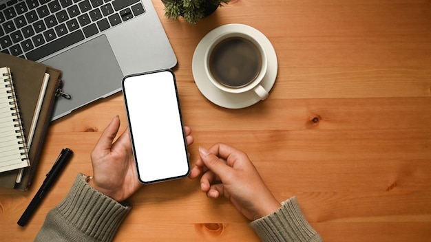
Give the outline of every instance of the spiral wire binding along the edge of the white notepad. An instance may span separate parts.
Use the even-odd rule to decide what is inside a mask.
[[[9,104],[12,106],[10,107],[10,110],[15,111],[14,113],[12,113],[12,116],[14,116],[13,121],[17,122],[17,124],[14,124],[14,128],[15,129],[15,133],[17,133],[17,139],[19,139],[20,141],[18,141],[18,144],[22,144],[22,146],[19,147],[20,150],[22,150],[23,152],[20,153],[20,155],[25,155],[28,154],[28,146],[27,144],[25,144],[25,142],[21,141],[21,140],[25,140],[25,135],[24,135],[24,130],[23,130],[23,124],[22,124],[22,120],[21,120],[21,113],[19,112],[19,102],[17,99],[17,94],[15,93],[15,87],[12,83],[12,72],[8,72],[8,73],[4,73],[3,76],[7,76],[8,78],[4,79],[6,84],[6,87],[10,87],[10,90],[7,91],[8,94],[10,94],[10,96],[8,96],[8,99],[12,99]],[[26,155],[25,158],[21,158],[21,161],[24,160],[28,160],[28,156]]]

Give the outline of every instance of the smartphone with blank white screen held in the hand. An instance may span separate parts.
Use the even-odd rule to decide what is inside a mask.
[[[186,177],[189,155],[174,72],[123,78],[132,149],[143,184]]]

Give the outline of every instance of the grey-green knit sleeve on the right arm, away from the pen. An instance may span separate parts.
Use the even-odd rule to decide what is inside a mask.
[[[306,221],[295,197],[284,201],[272,214],[252,221],[250,226],[264,242],[323,241]]]

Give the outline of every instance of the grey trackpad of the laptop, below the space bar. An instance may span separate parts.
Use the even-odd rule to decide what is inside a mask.
[[[63,91],[72,98],[57,98],[53,120],[121,89],[121,72],[105,35],[98,36],[46,61],[62,72]]]

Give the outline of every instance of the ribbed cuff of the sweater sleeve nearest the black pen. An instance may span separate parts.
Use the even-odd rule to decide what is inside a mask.
[[[78,174],[67,194],[54,210],[85,236],[96,241],[111,241],[130,210],[87,184],[87,176]]]

